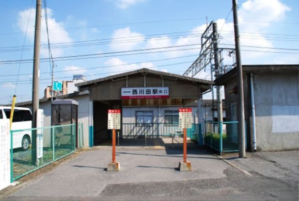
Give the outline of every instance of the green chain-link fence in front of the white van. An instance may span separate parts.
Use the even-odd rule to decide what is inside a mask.
[[[11,182],[75,151],[75,124],[11,131]],[[32,140],[36,138],[36,140]]]

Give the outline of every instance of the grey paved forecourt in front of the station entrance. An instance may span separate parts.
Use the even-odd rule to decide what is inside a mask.
[[[5,201],[61,200],[289,200],[298,201],[298,151],[217,157],[189,144],[192,171],[178,171],[180,139],[153,146],[117,148],[119,172],[106,171],[111,147],[96,147],[64,161],[3,198]],[[125,143],[123,142],[123,145]],[[163,145],[163,146],[162,146]],[[246,172],[248,172],[246,174]]]

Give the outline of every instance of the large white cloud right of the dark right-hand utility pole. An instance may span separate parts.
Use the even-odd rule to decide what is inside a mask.
[[[269,0],[247,0],[242,3],[238,11],[239,29],[241,32],[240,44],[243,46],[241,50],[258,50],[256,52],[242,51],[242,63],[264,63],[265,58],[269,54],[259,51],[268,49],[256,49],[244,46],[274,47],[272,42],[264,37],[262,32],[271,26],[270,22],[282,20],[286,11],[289,10],[290,8],[279,0],[271,0],[270,2]]]

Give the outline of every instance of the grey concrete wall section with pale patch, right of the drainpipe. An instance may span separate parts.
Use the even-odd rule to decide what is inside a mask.
[[[257,148],[299,148],[299,80],[294,73],[254,74]]]

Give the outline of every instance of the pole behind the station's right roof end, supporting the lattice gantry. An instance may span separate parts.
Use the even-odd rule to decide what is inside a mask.
[[[220,73],[220,62],[219,62],[219,49],[218,49],[218,31],[217,31],[217,23],[213,23],[213,49],[214,49],[214,62],[215,62],[215,78],[217,79],[221,73]],[[218,122],[223,121],[223,115],[222,115],[222,99],[221,99],[221,93],[220,93],[220,86],[216,87],[216,93],[217,93],[217,116],[218,116]],[[220,129],[220,125],[219,125]],[[220,131],[219,131],[220,133]]]

